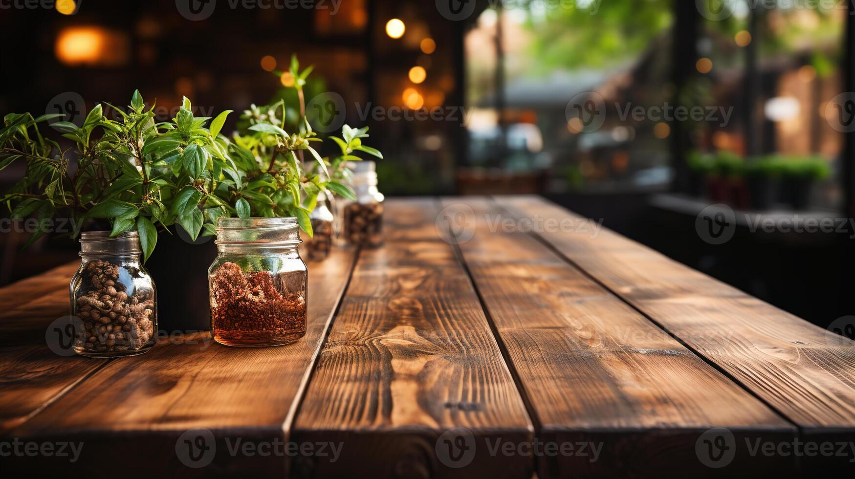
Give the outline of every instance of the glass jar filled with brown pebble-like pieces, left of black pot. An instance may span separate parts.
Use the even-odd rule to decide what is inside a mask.
[[[155,345],[157,293],[140,261],[139,234],[80,235],[80,269],[70,286],[74,352],[90,358],[142,354]]]

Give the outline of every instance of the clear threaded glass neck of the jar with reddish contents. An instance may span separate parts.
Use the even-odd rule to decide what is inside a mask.
[[[297,218],[219,218],[217,245],[292,246],[299,245]]]

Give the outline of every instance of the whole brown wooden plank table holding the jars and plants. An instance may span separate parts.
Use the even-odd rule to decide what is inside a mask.
[[[67,314],[75,268],[0,290],[0,454],[24,451],[0,456],[4,470],[851,476],[855,464],[855,343],[540,198],[388,201],[385,246],[310,263],[308,332],[290,346],[196,333],[137,358],[57,356],[45,332]],[[26,453],[79,441],[74,463]]]

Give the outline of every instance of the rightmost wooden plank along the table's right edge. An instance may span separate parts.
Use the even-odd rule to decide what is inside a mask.
[[[541,198],[497,201],[518,217],[580,218]],[[798,425],[802,440],[855,437],[855,342],[829,341],[823,328],[606,228],[540,237]],[[850,453],[802,462],[851,471],[851,459]]]

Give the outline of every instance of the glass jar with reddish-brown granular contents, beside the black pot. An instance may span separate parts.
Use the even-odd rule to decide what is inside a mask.
[[[220,218],[208,270],[211,330],[226,346],[280,346],[306,334],[309,274],[297,218]]]

